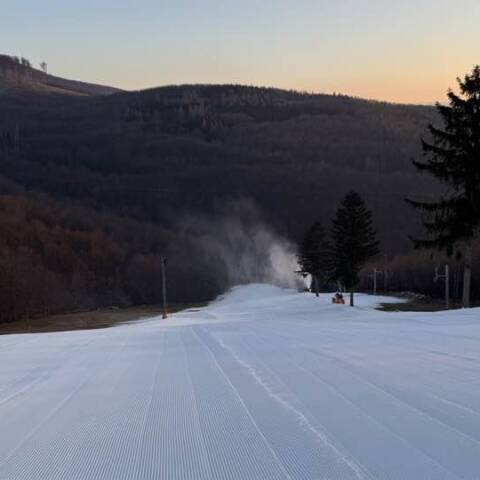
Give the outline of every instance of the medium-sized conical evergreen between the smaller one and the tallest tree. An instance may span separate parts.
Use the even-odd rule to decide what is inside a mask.
[[[349,192],[338,207],[332,226],[332,280],[350,291],[353,307],[358,274],[365,262],[378,253],[372,214],[356,192]]]

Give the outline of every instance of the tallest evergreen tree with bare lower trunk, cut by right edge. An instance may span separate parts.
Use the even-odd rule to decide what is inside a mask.
[[[470,306],[472,240],[480,226],[480,66],[463,80],[460,94],[448,92],[448,105],[437,104],[443,129],[429,126],[431,143],[422,140],[425,162],[413,161],[448,190],[436,201],[407,200],[424,212],[428,238],[415,246],[463,250],[463,306]]]

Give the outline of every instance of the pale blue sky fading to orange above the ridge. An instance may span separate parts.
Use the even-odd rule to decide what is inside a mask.
[[[125,89],[242,83],[432,103],[480,63],[479,25],[479,0],[15,0],[0,53]]]

